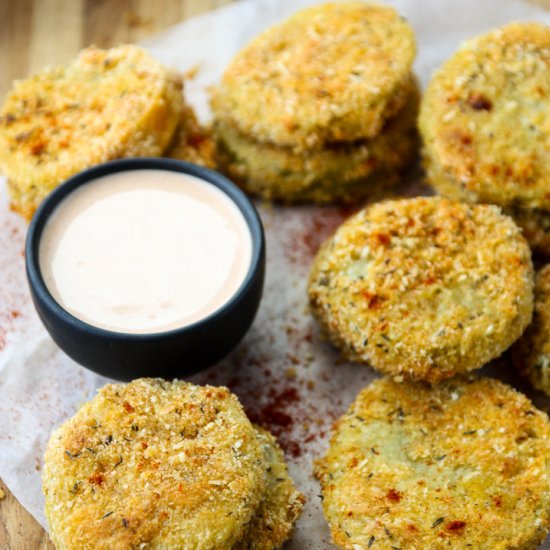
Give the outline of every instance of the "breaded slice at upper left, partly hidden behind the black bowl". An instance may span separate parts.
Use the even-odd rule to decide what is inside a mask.
[[[141,48],[90,47],[15,82],[0,109],[0,166],[11,206],[30,219],[59,183],[94,164],[159,156],[182,109],[182,83]]]

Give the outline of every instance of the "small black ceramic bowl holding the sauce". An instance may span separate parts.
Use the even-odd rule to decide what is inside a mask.
[[[252,260],[241,287],[218,310],[191,325],[152,334],[126,334],[98,328],[71,315],[53,298],[40,272],[40,238],[48,218],[63,199],[91,180],[125,170],[171,170],[190,174],[218,187],[238,206],[252,236]],[[181,378],[209,367],[243,338],[258,309],[265,271],[261,221],[246,195],[221,174],[162,158],[136,158],[101,164],[56,188],[41,204],[27,233],[26,271],[40,319],[57,345],[81,365],[111,378],[141,376]]]

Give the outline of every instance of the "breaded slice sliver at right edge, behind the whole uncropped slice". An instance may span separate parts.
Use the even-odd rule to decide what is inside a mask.
[[[550,265],[537,273],[533,322],[512,348],[512,358],[535,388],[550,395]]]

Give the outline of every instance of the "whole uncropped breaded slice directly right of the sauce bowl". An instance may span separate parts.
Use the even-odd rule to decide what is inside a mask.
[[[519,338],[533,278],[527,242],[498,207],[419,197],[344,222],[314,260],[309,299],[347,358],[437,382]]]

